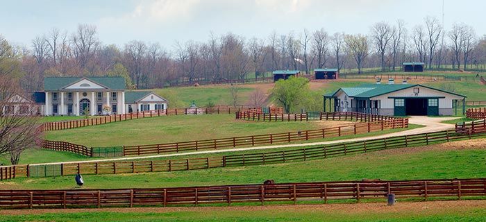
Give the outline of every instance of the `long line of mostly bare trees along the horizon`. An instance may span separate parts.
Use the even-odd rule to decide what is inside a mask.
[[[486,37],[463,23],[444,30],[435,17],[412,28],[403,20],[377,22],[360,34],[324,28],[273,32],[264,38],[210,34],[206,42],[175,42],[171,49],[139,40],[103,44],[97,27],[86,24],[73,33],[53,28],[28,46],[12,45],[0,35],[0,71],[22,76],[22,86],[29,90],[42,89],[44,76],[124,76],[128,87],[155,88],[249,74],[258,78],[277,69],[305,74],[324,67],[394,71],[412,61],[425,62],[427,69],[484,69]]]

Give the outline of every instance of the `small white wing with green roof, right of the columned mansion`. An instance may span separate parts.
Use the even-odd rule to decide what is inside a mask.
[[[167,110],[167,99],[153,92],[126,92],[125,110],[128,113],[149,110]]]

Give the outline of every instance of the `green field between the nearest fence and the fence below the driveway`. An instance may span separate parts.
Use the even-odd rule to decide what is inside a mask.
[[[194,171],[85,175],[85,189],[185,187],[199,185],[312,182],[328,180],[413,180],[424,178],[485,178],[486,139],[413,148],[399,148],[308,162]],[[73,176],[17,178],[0,182],[0,189],[73,189]]]

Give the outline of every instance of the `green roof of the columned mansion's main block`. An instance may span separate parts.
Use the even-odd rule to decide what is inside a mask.
[[[94,76],[94,77],[45,77],[44,91],[57,91],[68,85],[76,83],[78,80],[86,78],[94,83],[108,87],[108,89],[123,90],[125,79],[120,76]]]

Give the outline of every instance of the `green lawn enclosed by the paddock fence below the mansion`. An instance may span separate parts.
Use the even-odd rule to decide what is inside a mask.
[[[181,115],[49,131],[46,133],[46,139],[94,147],[128,146],[285,133],[293,130],[319,128],[322,126],[317,121],[257,122],[235,120],[234,114]]]

